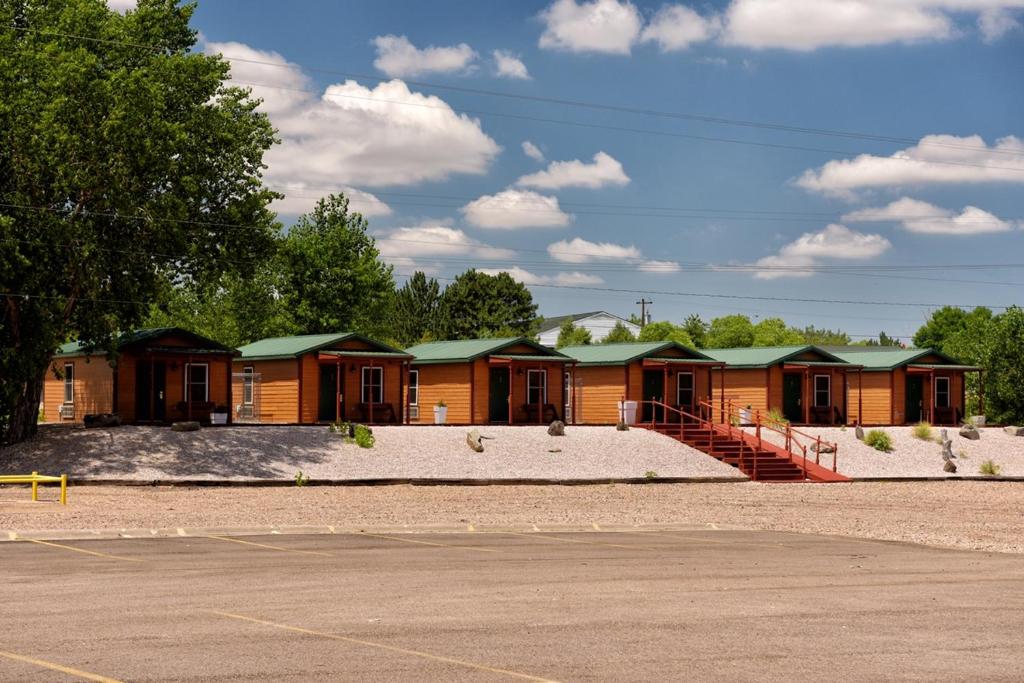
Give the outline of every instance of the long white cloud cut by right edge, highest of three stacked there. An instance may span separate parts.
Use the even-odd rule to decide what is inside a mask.
[[[1024,140],[1010,135],[990,147],[980,135],[928,135],[891,157],[830,161],[797,180],[805,189],[846,198],[869,187],[986,182],[1024,182]]]

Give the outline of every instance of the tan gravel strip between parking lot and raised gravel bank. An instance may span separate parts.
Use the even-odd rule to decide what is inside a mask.
[[[52,489],[45,496],[55,498]],[[74,486],[69,505],[0,489],[0,536],[33,529],[581,528],[717,524],[1024,553],[1024,483],[586,486]]]

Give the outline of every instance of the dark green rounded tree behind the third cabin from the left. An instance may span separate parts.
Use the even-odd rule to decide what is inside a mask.
[[[537,304],[522,283],[475,269],[444,289],[437,315],[441,339],[532,336],[538,325]]]

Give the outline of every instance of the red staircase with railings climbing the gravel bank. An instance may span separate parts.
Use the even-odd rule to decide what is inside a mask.
[[[772,424],[762,419],[759,413],[746,412],[742,417],[750,418],[749,425],[754,431],[741,428],[741,414],[731,403],[726,403],[725,410],[716,409],[709,402],[699,405],[702,416],[690,415],[656,400],[642,401],[650,403],[652,416],[663,420],[640,423],[637,426],[651,429],[666,436],[678,439],[686,445],[706,453],[712,458],[732,465],[755,481],[849,481],[836,471],[837,446],[835,443],[821,441],[820,438],[799,432],[788,425]],[[716,420],[716,414],[718,420]],[[669,422],[665,418],[676,416],[679,422]],[[785,446],[772,443],[764,438],[763,432],[771,431],[778,435],[778,440]],[[808,457],[807,441],[816,445],[811,447],[812,458]],[[830,447],[831,469],[820,463],[820,451]]]

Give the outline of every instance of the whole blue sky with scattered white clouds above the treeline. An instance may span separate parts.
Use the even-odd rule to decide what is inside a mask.
[[[399,281],[473,265],[547,315],[638,311],[566,287],[651,290],[657,319],[910,335],[930,308],[881,304],[1020,303],[1024,268],[978,266],[1024,263],[1022,4],[200,0],[195,25],[282,131],[283,214],[348,189]]]

